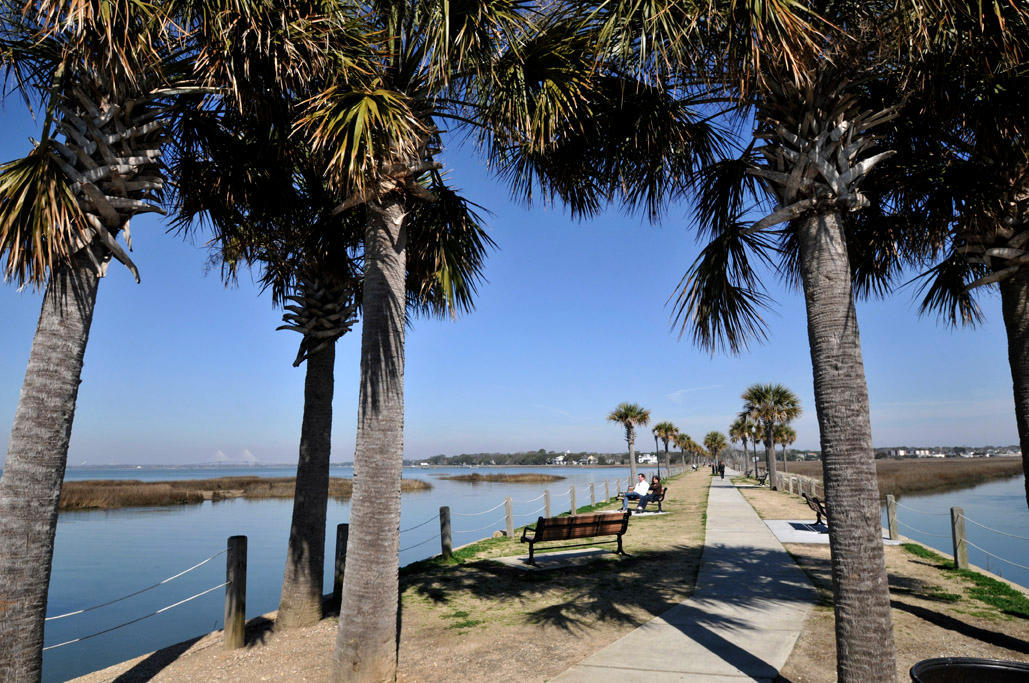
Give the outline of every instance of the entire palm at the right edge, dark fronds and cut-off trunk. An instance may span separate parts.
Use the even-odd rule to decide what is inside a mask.
[[[921,73],[929,100],[921,120],[942,164],[924,204],[951,213],[946,257],[923,276],[921,309],[973,326],[984,319],[979,294],[999,291],[1029,504],[1029,113],[1022,105],[1029,11],[969,7],[947,19],[950,31]]]

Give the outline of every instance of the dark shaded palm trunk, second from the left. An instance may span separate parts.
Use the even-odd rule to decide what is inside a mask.
[[[293,519],[277,628],[310,626],[321,619],[334,364],[334,341],[307,360]]]

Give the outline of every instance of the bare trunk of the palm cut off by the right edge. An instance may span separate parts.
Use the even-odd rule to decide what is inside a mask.
[[[1000,305],[1007,331],[1015,421],[1022,445],[1022,471],[1026,473],[1026,504],[1029,504],[1029,274],[1020,271],[1000,283]]]

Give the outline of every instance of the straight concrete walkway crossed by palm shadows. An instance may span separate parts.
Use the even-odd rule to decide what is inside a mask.
[[[554,680],[772,681],[816,597],[729,477],[715,477],[694,596]]]

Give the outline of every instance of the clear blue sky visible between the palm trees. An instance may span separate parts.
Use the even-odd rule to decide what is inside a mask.
[[[0,112],[0,159],[37,128],[14,98]],[[622,401],[698,440],[725,430],[755,382],[792,388],[805,412],[796,447],[818,447],[804,300],[777,299],[770,339],[738,357],[679,340],[666,301],[700,247],[687,206],[660,226],[617,211],[569,219],[509,200],[470,148],[443,160],[464,193],[492,211],[499,245],[477,310],[417,320],[407,334],[405,457],[536,448],[619,452],[605,421]],[[134,221],[142,284],[113,264],[101,283],[69,463],[295,462],[304,368],[298,336],[242,278],[224,287],[203,238]],[[0,287],[0,433],[10,433],[40,295]],[[911,290],[859,304],[876,445],[1018,441],[999,298],[977,330],[919,319]],[[333,462],[353,457],[360,327],[336,351]],[[638,440],[646,448],[649,434]],[[219,455],[220,454],[220,455]]]

